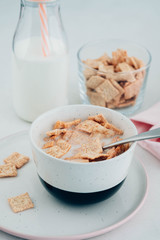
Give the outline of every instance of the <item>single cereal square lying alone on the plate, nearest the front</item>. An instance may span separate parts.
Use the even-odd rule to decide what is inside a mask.
[[[34,207],[34,204],[27,192],[19,196],[9,198],[8,203],[15,213]]]

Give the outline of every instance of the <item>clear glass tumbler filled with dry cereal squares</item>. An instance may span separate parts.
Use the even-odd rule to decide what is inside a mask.
[[[151,54],[128,40],[105,39],[83,45],[78,53],[83,104],[114,108],[130,116],[144,99]]]

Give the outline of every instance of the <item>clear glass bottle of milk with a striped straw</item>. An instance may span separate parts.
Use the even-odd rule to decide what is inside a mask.
[[[12,48],[17,115],[32,122],[41,113],[66,105],[68,47],[58,0],[21,0]]]

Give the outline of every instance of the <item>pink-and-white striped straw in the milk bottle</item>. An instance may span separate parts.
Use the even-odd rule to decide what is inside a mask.
[[[50,50],[49,50],[47,9],[44,3],[39,3],[39,15],[41,21],[42,52],[44,57],[47,57],[49,56]]]

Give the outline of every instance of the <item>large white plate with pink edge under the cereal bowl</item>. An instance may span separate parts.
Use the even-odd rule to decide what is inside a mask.
[[[134,160],[120,190],[111,198],[91,205],[75,206],[51,196],[41,185],[32,160],[28,133],[19,132],[0,140],[0,164],[12,152],[31,160],[18,176],[0,179],[0,230],[27,239],[86,239],[111,231],[128,221],[142,206],[147,176]],[[28,192],[35,208],[13,213],[7,199]]]

